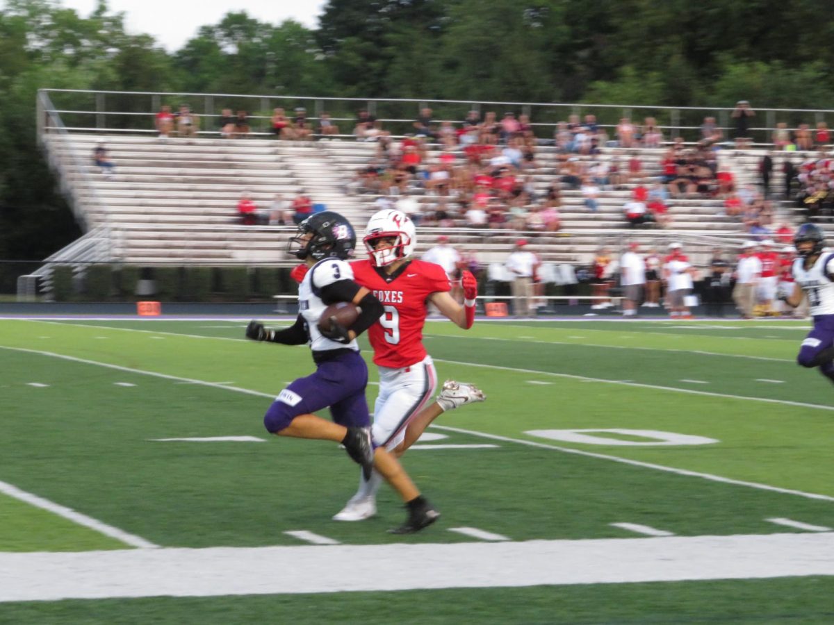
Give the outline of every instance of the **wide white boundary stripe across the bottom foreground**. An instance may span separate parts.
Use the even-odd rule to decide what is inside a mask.
[[[0,602],[834,575],[834,533],[0,553]]]

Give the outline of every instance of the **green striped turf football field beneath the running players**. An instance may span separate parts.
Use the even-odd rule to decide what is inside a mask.
[[[385,532],[404,518],[387,490],[377,517],[330,520],[358,468],[338,446],[269,437],[262,425],[274,395],[312,370],[309,349],[245,341],[244,327],[0,321],[0,622],[834,622],[834,572],[817,574],[834,571],[834,388],[794,362],[806,323],[479,322],[469,332],[429,323],[440,378],[477,383],[488,399],[442,415],[404,457],[442,512],[409,537]],[[246,439],[160,440],[219,437]],[[453,531],[461,527],[493,538]],[[339,546],[308,547],[291,531]],[[758,537],[774,535],[786,535],[788,553],[798,541],[812,562],[779,568],[769,542],[756,552]],[[751,573],[727,552],[711,572],[664,577],[658,562],[676,537],[704,553],[710,540],[748,537],[752,550],[735,559]],[[565,581],[513,555],[538,544]],[[470,546],[487,559],[461,561],[460,582],[441,571]],[[643,546],[656,561],[625,581],[630,556],[618,549]],[[33,558],[63,566],[84,552],[108,562],[183,547],[291,547],[281,557],[355,549],[385,566],[353,592],[298,582],[287,593],[221,585],[154,596],[188,595],[185,584],[51,600],[50,584],[38,601],[3,598],[3,575],[14,581],[3,564],[23,567],[18,579],[31,574],[40,598]],[[590,577],[570,577],[574,549]],[[398,558],[417,553],[425,579],[394,579]],[[745,560],[756,557],[761,571]],[[479,567],[495,567],[495,582],[471,581]],[[276,562],[275,575],[292,576],[288,568]]]

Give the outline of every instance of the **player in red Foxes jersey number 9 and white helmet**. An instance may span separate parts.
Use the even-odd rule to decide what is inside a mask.
[[[374,403],[374,444],[399,458],[420,438],[425,428],[446,410],[485,399],[472,384],[448,380],[437,401],[437,373],[423,345],[423,326],[429,303],[460,328],[475,321],[478,283],[472,273],[461,277],[464,305],[450,295],[450,281],[435,263],[409,258],[417,243],[414,222],[397,210],[375,213],[365,230],[366,260],[351,263],[354,279],[379,299],[384,313],[368,330],[379,368],[379,395]],[[336,521],[362,521],[376,513],[379,475],[362,476],[359,490]]]

